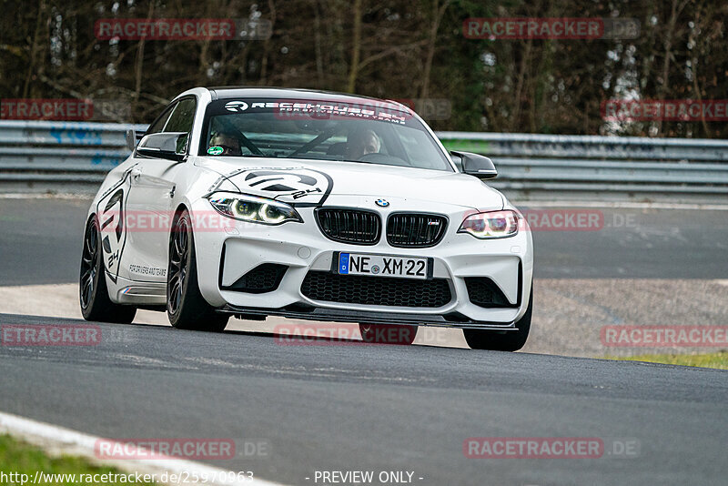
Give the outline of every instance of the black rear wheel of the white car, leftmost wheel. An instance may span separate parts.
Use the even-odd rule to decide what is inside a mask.
[[[97,221],[96,215],[88,218],[84,233],[78,283],[81,314],[86,320],[128,324],[134,320],[136,307],[115,304],[108,297]]]

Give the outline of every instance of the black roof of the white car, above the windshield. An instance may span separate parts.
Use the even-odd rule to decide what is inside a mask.
[[[260,86],[212,86],[207,88],[212,100],[229,99],[239,97],[253,98],[283,98],[283,99],[305,99],[310,101],[327,101],[329,103],[361,104],[368,102],[377,106],[398,109],[400,111],[411,111],[408,106],[396,101],[383,100],[369,96],[350,95],[347,93],[336,93],[332,91],[319,91],[316,89],[300,89],[290,87],[260,87]]]

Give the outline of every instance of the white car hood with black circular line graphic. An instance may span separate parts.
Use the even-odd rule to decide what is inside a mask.
[[[503,197],[479,179],[455,172],[356,162],[198,157],[216,171],[215,190],[236,190],[288,203],[323,204],[329,196],[399,197],[464,208],[501,209]]]

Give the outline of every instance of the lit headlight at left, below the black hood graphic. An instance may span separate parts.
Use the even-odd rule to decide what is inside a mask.
[[[218,213],[248,223],[280,225],[287,221],[303,222],[296,209],[267,197],[218,192],[207,199]]]

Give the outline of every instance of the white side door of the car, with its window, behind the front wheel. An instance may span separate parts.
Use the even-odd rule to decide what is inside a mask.
[[[161,130],[154,128],[157,132],[189,134],[196,109],[195,96],[181,98],[168,108],[164,127]],[[189,136],[183,143],[188,139]],[[169,230],[177,189],[175,179],[184,170],[185,162],[143,156],[137,156],[137,159],[138,163],[131,169],[126,200],[126,216],[130,221],[128,239],[134,249],[127,254],[124,266],[136,281],[166,282]]]

